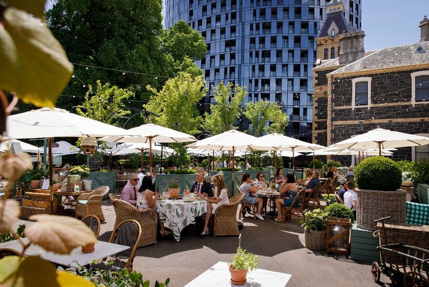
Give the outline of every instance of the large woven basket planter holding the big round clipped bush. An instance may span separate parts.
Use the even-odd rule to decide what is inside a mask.
[[[406,191],[356,190],[356,223],[359,228],[376,230],[374,220],[390,216],[390,221],[405,223]]]

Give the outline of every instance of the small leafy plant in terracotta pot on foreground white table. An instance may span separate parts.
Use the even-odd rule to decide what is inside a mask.
[[[258,256],[238,247],[233,257],[233,262],[228,263],[228,266],[231,273],[231,282],[235,285],[244,285],[247,281],[247,271],[258,268]]]

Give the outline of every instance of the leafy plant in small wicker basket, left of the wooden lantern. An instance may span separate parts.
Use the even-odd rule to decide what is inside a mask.
[[[305,219],[302,226],[305,226],[305,247],[311,250],[325,250],[325,223],[330,215],[319,208],[313,211],[307,209],[304,213]]]

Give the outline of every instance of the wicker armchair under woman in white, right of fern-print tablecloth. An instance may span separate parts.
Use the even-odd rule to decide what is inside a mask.
[[[215,219],[213,221],[213,235],[238,235],[237,210],[238,204],[244,198],[243,193],[239,193],[230,199],[230,203],[225,203],[216,208]]]

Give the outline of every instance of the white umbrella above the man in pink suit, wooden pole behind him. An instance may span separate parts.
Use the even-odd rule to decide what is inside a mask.
[[[149,168],[152,172],[152,143],[186,143],[195,142],[195,137],[174,129],[145,124],[128,129],[132,136],[107,136],[98,141],[113,143],[149,143]],[[143,166],[141,166],[143,167]]]

